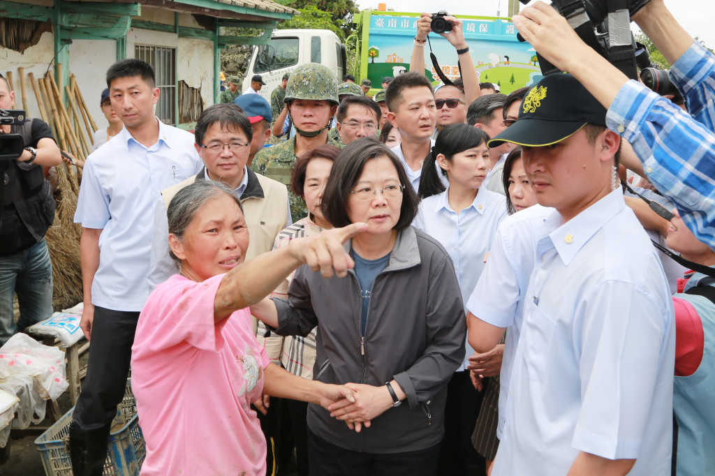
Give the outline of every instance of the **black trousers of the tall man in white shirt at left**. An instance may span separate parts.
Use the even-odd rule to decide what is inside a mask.
[[[139,312],[94,308],[87,377],[72,418],[80,434],[112,425],[127,387]]]

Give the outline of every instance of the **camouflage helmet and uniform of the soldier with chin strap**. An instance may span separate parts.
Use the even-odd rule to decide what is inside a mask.
[[[299,66],[288,78],[283,102],[290,104],[293,99],[330,101],[332,104],[337,105],[337,81],[335,76],[332,75],[330,69],[327,69],[327,66],[322,64],[309,63]],[[300,134],[300,132],[296,132]],[[295,139],[296,137],[292,137],[285,142],[259,151],[253,159],[251,169],[257,174],[277,180],[282,184],[290,185],[290,174],[296,159]],[[328,137],[326,143],[341,149],[345,147],[330,139],[330,137]],[[303,199],[292,192],[289,192],[288,196],[292,218],[298,220],[306,217],[308,212]]]

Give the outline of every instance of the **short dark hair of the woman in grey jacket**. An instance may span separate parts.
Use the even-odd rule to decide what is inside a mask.
[[[346,227],[351,223],[347,216],[347,198],[350,197],[350,192],[358,183],[360,175],[363,174],[365,163],[375,157],[383,156],[393,163],[398,172],[400,184],[404,186],[400,218],[393,229],[399,232],[410,227],[417,216],[420,199],[410,184],[410,179],[408,179],[400,159],[388,147],[385,147],[385,144],[378,142],[373,137],[363,137],[347,144],[335,159],[335,164],[332,165],[320,207],[325,219],[334,227]]]

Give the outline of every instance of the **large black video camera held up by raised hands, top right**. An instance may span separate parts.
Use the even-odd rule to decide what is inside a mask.
[[[529,0],[519,0],[528,4]],[[650,0],[552,0],[578,36],[631,79],[638,79],[631,15]],[[521,35],[518,36],[524,41]],[[536,51],[544,76],[561,72]]]

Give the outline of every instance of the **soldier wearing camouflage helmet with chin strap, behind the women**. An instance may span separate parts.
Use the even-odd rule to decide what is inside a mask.
[[[284,101],[295,128],[295,137],[258,152],[251,169],[287,185],[290,184],[290,174],[297,155],[326,143],[341,147],[327,136],[330,118],[335,114],[338,104],[337,79],[322,64],[299,66],[290,74]],[[290,211],[293,219],[307,215],[305,202],[292,193]]]

